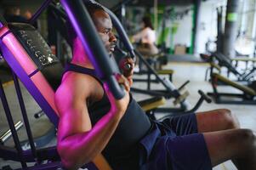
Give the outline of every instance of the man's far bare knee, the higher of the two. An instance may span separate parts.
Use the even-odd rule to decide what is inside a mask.
[[[221,115],[221,119],[223,119],[223,121],[226,122],[226,126],[228,129],[240,127],[240,123],[238,122],[236,116],[234,114],[232,114],[230,110],[219,109],[218,111]]]

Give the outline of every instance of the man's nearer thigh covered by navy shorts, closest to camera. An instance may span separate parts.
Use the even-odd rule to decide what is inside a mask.
[[[142,169],[210,170],[212,164],[202,133],[194,133],[157,140],[151,160]]]

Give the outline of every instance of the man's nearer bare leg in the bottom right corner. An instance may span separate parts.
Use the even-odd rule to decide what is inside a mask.
[[[251,130],[203,133],[213,166],[229,159],[239,170],[256,170],[256,138]]]

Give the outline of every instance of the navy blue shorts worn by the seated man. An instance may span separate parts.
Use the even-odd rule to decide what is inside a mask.
[[[195,114],[156,122],[140,141],[141,170],[210,170],[212,164]]]

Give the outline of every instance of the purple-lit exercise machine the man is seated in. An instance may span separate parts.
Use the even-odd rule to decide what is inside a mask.
[[[49,3],[51,3],[51,1],[45,1],[43,6],[39,8],[36,14],[34,14],[32,20],[35,20],[37,18],[36,16],[41,14],[43,9],[46,8]],[[122,88],[118,85],[114,76],[116,72],[111,68],[111,61],[105,52],[100,37],[97,36],[92,21],[84,8],[84,4],[82,1],[71,3],[71,1],[67,0],[63,0],[61,3],[63,3],[66,10],[69,11],[68,14],[71,15],[70,17],[75,17],[77,19],[72,20],[73,24],[77,25],[77,32],[82,32],[79,34],[79,37],[83,40],[82,42],[84,45],[88,45],[86,50],[90,53],[90,59],[94,61],[95,68],[101,68],[98,70],[98,73],[102,80],[108,83],[108,86],[117,99],[122,98]],[[83,26],[87,26],[87,29],[82,29]],[[43,112],[48,116],[50,122],[57,128],[59,118],[58,111],[54,105],[54,90],[60,84],[59,77],[61,75],[62,65],[60,64],[59,59],[51,53],[51,49],[43,40],[43,37],[31,25],[17,23],[8,24],[1,16],[0,37],[0,49],[3,58],[11,67],[12,71],[14,71],[14,75],[19,77],[20,82],[23,82],[28,92],[37,101],[37,104],[40,105]],[[98,38],[98,41],[88,41],[90,38],[93,38],[94,40]],[[101,44],[101,46],[99,44]],[[97,50],[90,50],[92,47],[97,47],[98,45],[100,47],[98,47]],[[94,56],[101,57],[95,59]],[[104,63],[104,66],[100,66],[102,63]],[[55,81],[53,82],[52,79]],[[15,83],[15,87],[19,88],[18,79],[16,80],[17,83]],[[20,93],[20,90],[18,90],[17,94],[19,96],[19,104],[22,110],[24,126],[26,127],[26,133],[31,146],[31,149],[29,150],[22,150],[20,139],[15,129],[20,126],[20,123],[15,126],[2,83],[0,84],[1,101],[15,143],[14,148],[0,144],[0,157],[5,160],[20,161],[22,169],[61,169],[60,156],[58,155],[55,146],[37,149],[34,144],[30,123],[25,111],[26,107],[24,105],[22,94]],[[33,162],[34,165],[29,167],[27,162]],[[88,163],[84,167],[89,170],[111,169],[102,156],[97,156],[94,163]],[[11,167],[4,168],[10,169]]]

